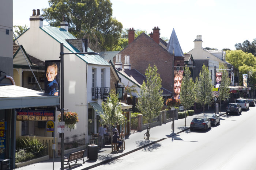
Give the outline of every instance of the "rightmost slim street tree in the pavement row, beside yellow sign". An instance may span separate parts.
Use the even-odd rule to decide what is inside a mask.
[[[225,67],[223,65],[220,65],[219,69],[224,69]],[[229,73],[226,70],[220,70],[222,72],[221,77],[221,84],[219,85],[219,111],[221,111],[221,101],[226,100],[226,98],[229,98],[230,94],[230,88],[229,85],[231,83],[231,80],[229,78]]]

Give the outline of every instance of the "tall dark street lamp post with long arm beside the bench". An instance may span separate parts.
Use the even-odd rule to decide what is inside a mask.
[[[87,49],[86,49],[87,50]],[[60,43],[60,116],[61,121],[64,119],[64,55],[65,54],[87,54],[87,55],[99,55],[95,52],[85,52],[85,53],[64,53],[63,43]],[[64,133],[61,133],[60,141],[60,169],[64,170]]]

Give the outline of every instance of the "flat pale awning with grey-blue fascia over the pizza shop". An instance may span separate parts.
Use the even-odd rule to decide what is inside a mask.
[[[0,86],[0,109],[60,105],[60,96],[23,88],[16,85]]]

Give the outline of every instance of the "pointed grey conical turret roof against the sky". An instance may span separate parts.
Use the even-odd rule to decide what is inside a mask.
[[[184,54],[180,47],[180,43],[178,41],[177,35],[174,31],[174,28],[173,28],[172,35],[169,39],[169,42],[167,44],[166,50],[169,51],[171,54],[173,54],[173,52],[174,52],[174,56],[184,57]]]

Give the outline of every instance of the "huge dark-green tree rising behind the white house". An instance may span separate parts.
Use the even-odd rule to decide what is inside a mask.
[[[50,7],[42,10],[42,16],[50,26],[60,26],[65,16],[68,31],[74,36],[81,31],[89,33],[88,37],[96,35],[101,49],[112,50],[117,45],[123,25],[112,18],[110,0],[49,0],[48,3]]]

